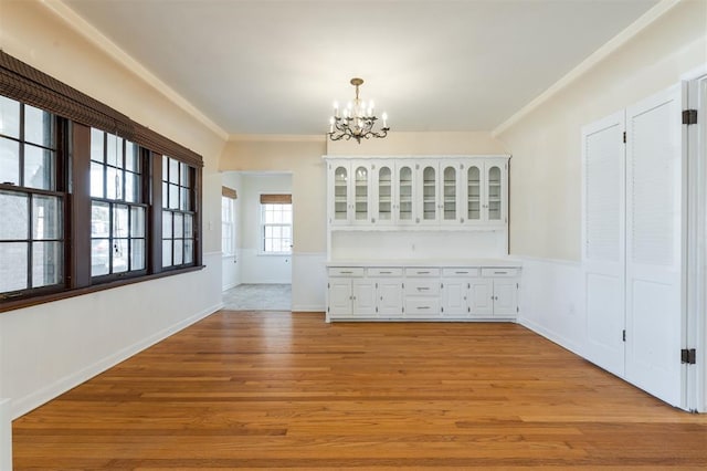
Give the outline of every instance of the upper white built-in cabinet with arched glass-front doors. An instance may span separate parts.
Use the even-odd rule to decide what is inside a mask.
[[[504,227],[508,156],[327,158],[333,228]]]

